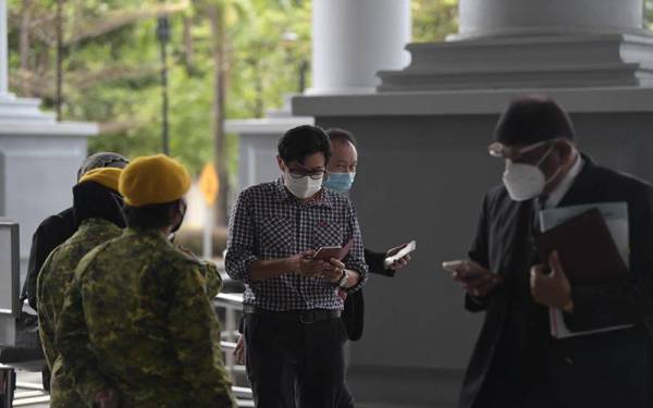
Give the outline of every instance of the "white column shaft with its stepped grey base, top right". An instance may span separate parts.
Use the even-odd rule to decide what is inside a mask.
[[[460,0],[459,33],[411,44],[380,91],[653,86],[643,0]]]

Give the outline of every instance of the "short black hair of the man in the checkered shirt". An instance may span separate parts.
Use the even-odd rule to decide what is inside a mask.
[[[297,161],[304,164],[309,156],[324,154],[324,163],[331,159],[331,141],[321,127],[303,125],[287,131],[276,145],[279,157],[284,162]]]

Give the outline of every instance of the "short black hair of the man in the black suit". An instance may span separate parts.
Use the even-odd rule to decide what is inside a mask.
[[[574,140],[569,115],[553,99],[529,95],[514,99],[501,115],[494,137],[507,146],[533,145],[556,138]]]

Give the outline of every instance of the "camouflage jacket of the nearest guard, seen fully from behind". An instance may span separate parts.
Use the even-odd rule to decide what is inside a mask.
[[[205,274],[158,231],[128,228],[79,262],[57,346],[85,400],[114,388],[122,407],[236,407]]]

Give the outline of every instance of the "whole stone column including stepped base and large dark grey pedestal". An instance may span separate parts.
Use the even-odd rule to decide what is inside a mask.
[[[483,316],[463,310],[459,288],[436,265],[465,257],[481,197],[501,183],[502,163],[485,146],[510,99],[552,96],[570,112],[582,151],[653,180],[653,34],[640,28],[642,0],[459,5],[460,33],[409,45],[410,65],[382,72],[378,92],[293,100],[295,114],[358,139],[352,198],[366,247],[420,243],[405,271],[366,287],[347,382],[370,406],[457,406]]]

